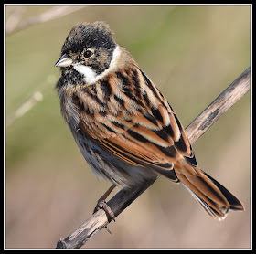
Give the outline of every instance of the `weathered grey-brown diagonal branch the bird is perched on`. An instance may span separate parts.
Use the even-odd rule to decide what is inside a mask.
[[[218,121],[222,114],[239,101],[250,90],[250,83],[251,68],[249,67],[187,126],[186,132],[190,143],[195,143],[204,132],[208,131],[214,122]],[[127,206],[132,204],[150,185],[153,185],[155,180],[156,178],[147,180],[144,182],[144,185],[137,186],[132,190],[121,190],[113,196],[108,202],[108,206],[111,207],[115,217],[122,213]],[[56,248],[80,248],[109,223],[109,218],[105,211],[101,209],[88,218],[80,228],[75,229],[67,238],[60,239]]]

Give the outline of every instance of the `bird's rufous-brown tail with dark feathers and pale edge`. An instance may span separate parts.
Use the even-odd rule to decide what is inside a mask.
[[[176,176],[211,217],[224,219],[229,209],[244,210],[240,200],[196,166],[181,159],[175,164]]]

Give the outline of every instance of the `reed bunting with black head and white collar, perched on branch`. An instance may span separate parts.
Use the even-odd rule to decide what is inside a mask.
[[[197,167],[176,112],[103,22],[74,26],[56,65],[61,112],[92,172],[133,188],[164,175],[185,186],[212,217],[244,210]],[[107,206],[103,206],[107,208]],[[111,213],[111,211],[109,211]],[[112,218],[114,215],[112,215]]]

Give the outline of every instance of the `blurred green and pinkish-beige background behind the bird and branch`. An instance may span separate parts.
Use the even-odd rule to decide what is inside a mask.
[[[251,64],[251,6],[91,5],[66,16],[53,8],[5,5],[6,248],[55,248],[110,186],[91,174],[54,90],[54,64],[72,26],[107,22],[185,127]],[[56,18],[33,24],[52,10]],[[37,91],[43,100],[16,118]],[[199,166],[239,197],[245,212],[219,222],[161,177],[110,224],[112,235],[102,230],[84,248],[250,248],[250,141],[247,93],[193,145]]]

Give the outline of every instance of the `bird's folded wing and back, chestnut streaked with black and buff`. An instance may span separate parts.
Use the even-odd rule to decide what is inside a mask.
[[[166,176],[180,157],[197,165],[175,111],[138,67],[81,88],[72,101],[80,111],[80,131],[124,162]]]

